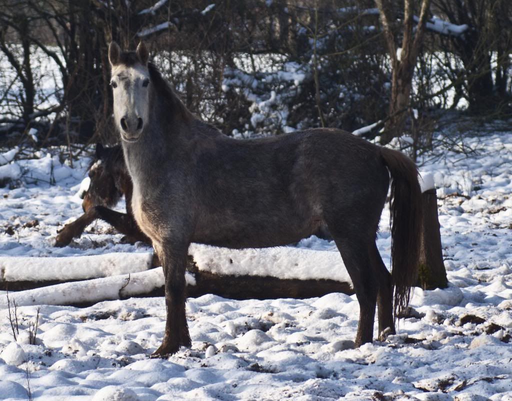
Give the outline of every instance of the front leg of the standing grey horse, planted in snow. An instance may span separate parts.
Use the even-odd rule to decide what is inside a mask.
[[[181,346],[190,347],[190,334],[185,314],[185,266],[189,243],[165,240],[154,244],[165,276],[165,307],[167,319],[162,345],[152,357],[166,357]]]

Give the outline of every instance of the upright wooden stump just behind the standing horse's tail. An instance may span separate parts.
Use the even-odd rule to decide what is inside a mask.
[[[428,189],[422,193],[423,225],[419,260],[418,285],[424,290],[446,288],[448,279],[443,262],[437,193]]]

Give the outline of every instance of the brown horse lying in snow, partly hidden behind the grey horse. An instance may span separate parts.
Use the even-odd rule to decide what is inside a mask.
[[[65,247],[73,238],[78,238],[94,220],[109,223],[129,243],[137,241],[151,245],[151,240],[140,231],[132,212],[132,179],[126,169],[120,145],[112,148],[96,145],[96,155],[89,168],[91,184],[82,196],[84,213],[74,222],[64,226],[55,238],[55,246]],[[121,196],[126,199],[126,213],[112,210]]]

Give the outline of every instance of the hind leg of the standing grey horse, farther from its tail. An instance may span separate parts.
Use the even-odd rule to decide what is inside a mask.
[[[333,236],[359,302],[359,326],[355,337],[357,348],[373,341],[378,289],[376,272],[368,254],[368,240],[358,238],[357,235],[340,238],[333,233]]]

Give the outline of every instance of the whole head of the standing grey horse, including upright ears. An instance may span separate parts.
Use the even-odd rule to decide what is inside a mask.
[[[121,52],[117,43],[109,46],[114,118],[125,142],[137,142],[149,119],[149,53],[143,42],[135,52]]]

